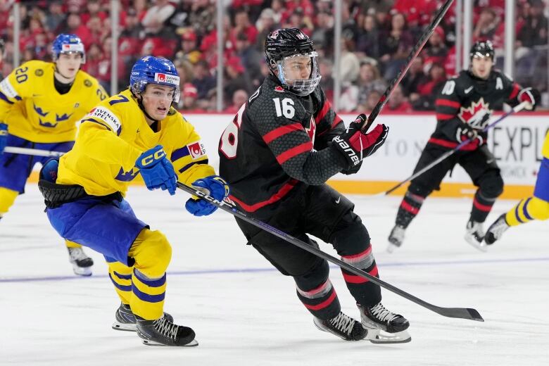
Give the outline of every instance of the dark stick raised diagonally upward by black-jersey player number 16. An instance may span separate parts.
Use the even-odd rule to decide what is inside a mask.
[[[374,109],[372,109],[372,112],[370,112],[370,115],[368,115],[368,119],[365,120],[364,125],[362,125],[362,128],[360,129],[362,132],[366,133],[370,126],[372,126],[372,123],[377,118],[377,115],[381,112],[381,108],[383,108],[387,101],[389,101],[389,96],[391,96],[400,81],[403,80],[404,75],[408,72],[408,69],[412,65],[412,61],[414,61],[417,55],[419,55],[419,52],[422,51],[423,46],[427,43],[427,40],[431,37],[431,34],[433,34],[438,23],[441,23],[442,18],[448,11],[448,8],[450,8],[450,5],[452,5],[452,2],[453,0],[446,0],[446,3],[442,6],[441,10],[438,11],[438,14],[436,14],[436,17],[433,19],[431,24],[429,24],[427,30],[422,34],[422,37],[419,38],[417,44],[410,52],[410,55],[406,58],[405,65],[400,69],[400,71],[398,71],[396,77],[391,80],[391,84],[389,84],[389,87],[387,87],[384,94],[381,96],[379,101],[377,101],[377,104],[374,106]]]

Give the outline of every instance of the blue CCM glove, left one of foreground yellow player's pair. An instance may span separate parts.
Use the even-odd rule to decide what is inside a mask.
[[[147,188],[161,188],[163,191],[168,189],[170,194],[175,194],[177,175],[173,170],[173,165],[168,158],[162,146],[156,145],[137,158],[135,165],[141,172],[141,177],[145,181]]]

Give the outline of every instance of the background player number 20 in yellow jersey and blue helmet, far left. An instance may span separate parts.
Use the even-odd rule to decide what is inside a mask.
[[[69,151],[76,122],[108,96],[97,80],[80,70],[84,44],[75,34],[59,34],[53,63],[28,61],[0,82],[0,217],[25,192],[42,156],[3,153],[4,147]],[[92,274],[93,260],[80,244],[66,241],[75,274]]]

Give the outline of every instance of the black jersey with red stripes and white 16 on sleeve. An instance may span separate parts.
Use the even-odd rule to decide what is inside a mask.
[[[220,139],[220,176],[229,183],[229,198],[247,212],[268,215],[274,203],[326,182],[347,166],[331,147],[344,129],[320,87],[296,96],[270,75]]]

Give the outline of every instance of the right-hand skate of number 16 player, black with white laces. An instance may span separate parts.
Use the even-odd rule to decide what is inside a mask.
[[[383,304],[367,308],[357,304],[362,327],[368,330],[367,340],[372,343],[406,343],[412,340],[408,334],[410,323],[402,315],[391,313]]]

